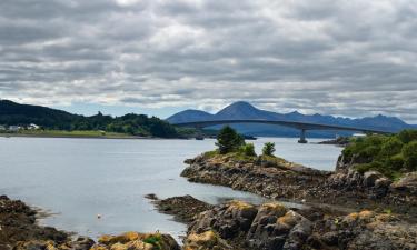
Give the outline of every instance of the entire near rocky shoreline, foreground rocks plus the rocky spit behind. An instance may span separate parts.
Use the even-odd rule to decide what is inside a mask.
[[[260,206],[211,206],[190,196],[147,198],[188,224],[182,246],[162,232],[101,236],[97,242],[37,223],[37,211],[0,197],[0,250],[416,250],[417,173],[393,181],[360,173],[340,157],[335,172],[280,158],[201,154],[186,161],[190,181],[270,198]],[[285,207],[279,200],[298,202]]]

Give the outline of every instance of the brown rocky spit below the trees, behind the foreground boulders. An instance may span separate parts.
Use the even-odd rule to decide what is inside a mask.
[[[376,171],[365,173],[339,158],[335,172],[306,168],[279,158],[242,160],[201,154],[186,160],[189,181],[231,187],[275,200],[340,206],[351,210],[389,210],[417,218],[417,172],[397,181]]]

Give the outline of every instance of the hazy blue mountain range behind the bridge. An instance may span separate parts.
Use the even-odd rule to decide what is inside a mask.
[[[364,129],[384,130],[397,132],[403,129],[417,128],[417,126],[408,124],[405,121],[395,118],[378,114],[376,117],[366,117],[358,119],[332,117],[324,114],[302,114],[297,111],[290,113],[278,113],[267,110],[261,110],[252,104],[238,101],[221,109],[212,114],[201,110],[185,110],[178,112],[167,119],[170,123],[192,122],[203,120],[240,120],[240,119],[262,119],[262,120],[284,120],[284,121],[299,121],[320,124],[358,127]],[[234,124],[239,132],[250,136],[270,136],[270,137],[298,137],[299,131],[296,129],[271,126],[271,124]],[[219,126],[212,127],[218,129]],[[308,131],[309,137],[334,137],[335,134],[348,136],[351,132],[335,132],[335,131]]]

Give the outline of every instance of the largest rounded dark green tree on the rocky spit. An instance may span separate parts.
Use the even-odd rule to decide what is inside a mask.
[[[224,127],[217,136],[216,146],[221,154],[238,151],[244,144],[244,138],[229,126]]]

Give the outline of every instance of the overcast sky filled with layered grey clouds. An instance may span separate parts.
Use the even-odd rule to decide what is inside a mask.
[[[0,98],[417,123],[416,0],[0,0]]]

